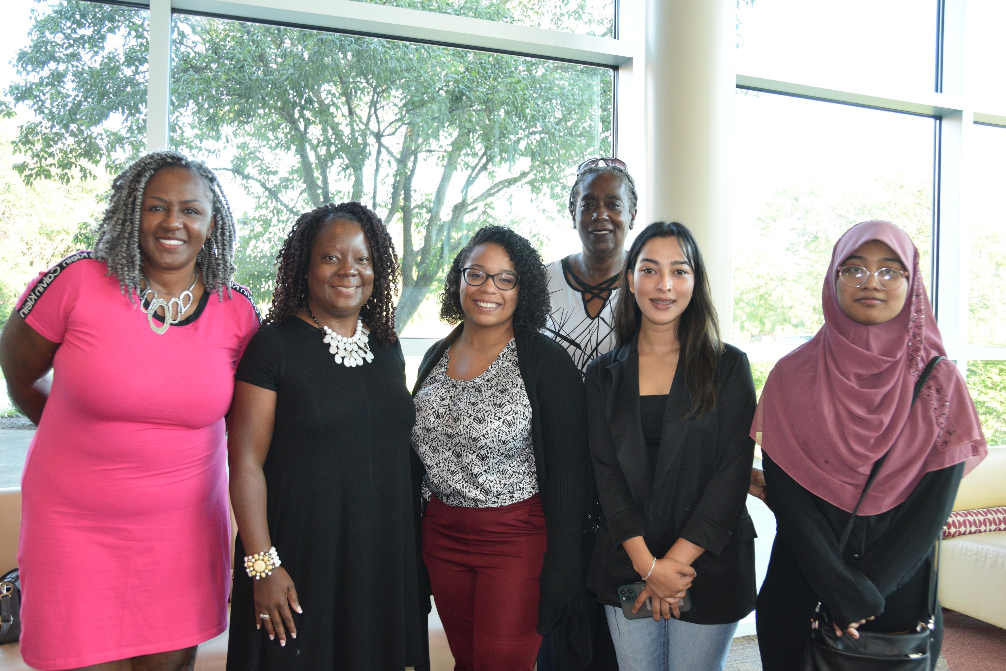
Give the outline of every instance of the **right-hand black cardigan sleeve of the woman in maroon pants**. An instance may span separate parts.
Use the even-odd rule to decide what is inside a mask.
[[[545,337],[542,336],[542,339]],[[583,381],[579,369],[561,346],[548,340],[535,371],[542,453],[547,481],[541,492],[548,549],[541,570],[539,631],[552,627],[565,601],[580,589],[585,480],[586,426]],[[570,570],[570,567],[576,567]],[[561,603],[559,603],[561,602]],[[555,609],[554,612],[543,612]],[[547,630],[546,630],[547,631]]]

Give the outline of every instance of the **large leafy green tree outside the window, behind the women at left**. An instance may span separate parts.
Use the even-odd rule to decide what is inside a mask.
[[[37,13],[8,90],[38,117],[17,140],[26,181],[92,177],[81,165],[116,170],[142,152],[145,26],[140,10],[72,0]],[[558,212],[570,166],[611,146],[602,68],[191,16],[175,17],[173,56],[172,144],[255,198],[238,279],[263,303],[294,218],[361,200],[398,231],[401,330],[471,232],[501,220],[502,199],[530,193]]]

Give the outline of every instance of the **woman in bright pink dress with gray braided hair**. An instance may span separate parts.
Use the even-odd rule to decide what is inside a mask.
[[[4,327],[38,427],[18,551],[37,669],[192,669],[226,628],[224,414],[259,327],[233,243],[213,173],[149,154],[113,183],[95,250],[39,275]]]

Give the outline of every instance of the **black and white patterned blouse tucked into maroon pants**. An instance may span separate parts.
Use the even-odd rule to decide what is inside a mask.
[[[427,467],[423,497],[491,508],[538,493],[531,444],[531,401],[511,340],[486,372],[449,377],[449,352],[415,394],[412,448]]]

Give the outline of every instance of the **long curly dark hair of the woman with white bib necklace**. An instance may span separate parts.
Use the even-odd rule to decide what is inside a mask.
[[[273,292],[273,307],[264,323],[285,322],[307,306],[311,247],[318,229],[332,219],[354,221],[363,227],[373,261],[374,289],[360,309],[360,318],[378,341],[390,345],[398,339],[394,332],[394,295],[401,277],[398,255],[380,217],[366,205],[355,201],[338,205],[329,203],[298,217],[276,255],[279,265],[276,290]]]

